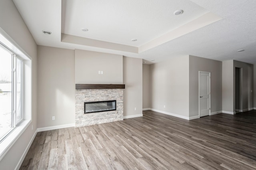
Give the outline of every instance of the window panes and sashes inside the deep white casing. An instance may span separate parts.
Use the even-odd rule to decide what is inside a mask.
[[[23,121],[23,61],[0,43],[0,142]]]

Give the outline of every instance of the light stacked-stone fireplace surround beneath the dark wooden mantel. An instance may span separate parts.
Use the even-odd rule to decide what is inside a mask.
[[[94,87],[95,88],[95,87]],[[108,87],[103,87],[108,88]],[[112,87],[110,87],[112,88]],[[76,85],[75,122],[76,127],[96,125],[123,120],[123,88],[83,89]],[[116,100],[116,111],[84,114],[84,102]]]

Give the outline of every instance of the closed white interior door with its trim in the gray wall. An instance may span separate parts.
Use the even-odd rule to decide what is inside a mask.
[[[210,72],[199,71],[199,116],[210,115]]]

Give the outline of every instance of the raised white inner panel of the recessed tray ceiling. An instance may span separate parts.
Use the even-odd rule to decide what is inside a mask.
[[[66,0],[62,33],[138,47],[206,12],[190,0]]]

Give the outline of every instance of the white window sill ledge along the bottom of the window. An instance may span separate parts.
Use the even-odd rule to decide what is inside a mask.
[[[12,145],[18,140],[20,135],[26,130],[30,125],[31,120],[24,120],[22,123],[16,127],[1,143],[0,143],[0,161],[4,158],[5,154],[10,150]]]

